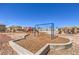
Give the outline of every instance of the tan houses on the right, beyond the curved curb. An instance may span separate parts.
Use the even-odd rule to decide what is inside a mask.
[[[58,28],[58,34],[78,34],[79,27],[63,27]]]

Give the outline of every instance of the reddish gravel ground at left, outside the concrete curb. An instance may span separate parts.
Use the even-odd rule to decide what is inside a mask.
[[[9,41],[12,40],[6,34],[0,34],[0,55],[16,55],[17,53],[9,46]]]

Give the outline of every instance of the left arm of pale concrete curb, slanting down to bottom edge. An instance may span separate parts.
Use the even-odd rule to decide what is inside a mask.
[[[9,44],[19,55],[33,55],[33,53],[31,53],[27,49],[19,46],[17,43],[15,43],[13,41],[9,41]]]

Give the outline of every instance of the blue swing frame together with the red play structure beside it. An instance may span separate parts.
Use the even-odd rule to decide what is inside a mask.
[[[50,34],[51,39],[53,39],[54,24],[53,23],[36,24],[35,27],[29,27],[26,33],[28,33],[28,35],[33,34],[33,38],[39,36],[40,33],[47,33]]]

